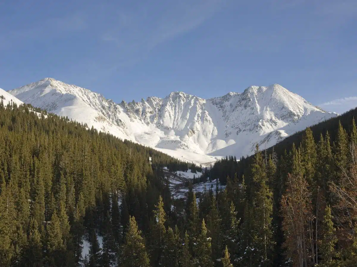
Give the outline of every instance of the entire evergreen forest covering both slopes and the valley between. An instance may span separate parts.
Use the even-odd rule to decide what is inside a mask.
[[[356,266],[350,114],[227,157],[212,169],[225,189],[174,200],[160,167],[187,163],[0,105],[0,266]]]

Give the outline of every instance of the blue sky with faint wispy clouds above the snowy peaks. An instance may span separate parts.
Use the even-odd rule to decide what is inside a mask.
[[[357,105],[356,0],[1,1],[0,87],[45,77],[115,102],[281,84]]]

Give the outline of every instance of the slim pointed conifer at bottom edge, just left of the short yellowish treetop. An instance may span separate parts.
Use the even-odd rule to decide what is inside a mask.
[[[197,239],[195,266],[213,266],[211,238],[207,238],[205,219],[202,220],[201,233]]]

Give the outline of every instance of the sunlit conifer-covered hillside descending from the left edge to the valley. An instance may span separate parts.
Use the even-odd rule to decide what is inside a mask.
[[[88,260],[107,266],[129,214],[147,233],[159,195],[169,196],[157,167],[188,164],[31,110],[0,105],[0,266],[76,266],[95,231],[103,253],[92,247]]]

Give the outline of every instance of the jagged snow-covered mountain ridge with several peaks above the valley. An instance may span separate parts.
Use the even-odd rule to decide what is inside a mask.
[[[10,90],[25,103],[87,123],[119,138],[199,163],[251,155],[322,120],[337,116],[278,84],[202,99],[183,92],[114,103],[88,89],[46,78]]]

